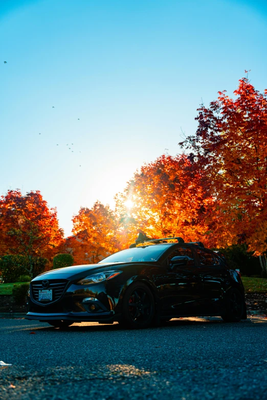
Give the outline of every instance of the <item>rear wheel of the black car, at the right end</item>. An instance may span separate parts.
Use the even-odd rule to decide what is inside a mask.
[[[226,322],[239,322],[244,309],[243,296],[237,289],[231,289],[226,298],[226,313],[221,318]]]

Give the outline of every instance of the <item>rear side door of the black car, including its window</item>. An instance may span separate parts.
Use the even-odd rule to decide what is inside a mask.
[[[212,251],[199,248],[195,249],[195,251],[199,278],[203,282],[200,292],[202,311],[204,313],[219,312],[225,291],[226,268]]]

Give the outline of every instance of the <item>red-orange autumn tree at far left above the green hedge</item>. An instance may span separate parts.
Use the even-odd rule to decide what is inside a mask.
[[[63,230],[56,209],[48,207],[39,191],[23,196],[16,190],[0,199],[0,237],[0,255],[23,254],[33,266],[34,257],[52,260]]]

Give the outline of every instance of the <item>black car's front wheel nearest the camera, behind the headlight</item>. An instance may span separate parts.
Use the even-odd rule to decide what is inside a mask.
[[[150,289],[142,282],[129,286],[123,296],[121,323],[130,329],[147,328],[153,319],[155,303]]]

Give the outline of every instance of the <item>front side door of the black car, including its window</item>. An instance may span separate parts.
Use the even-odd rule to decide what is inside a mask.
[[[187,264],[173,266],[173,257],[185,256]],[[199,277],[190,246],[172,249],[165,260],[167,273],[164,285],[164,309],[168,315],[194,315],[199,308]]]

